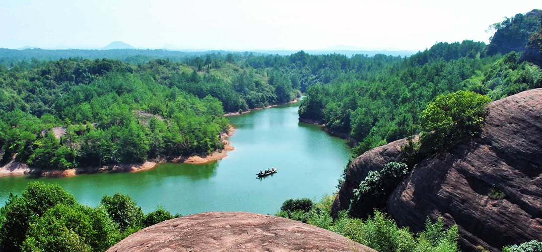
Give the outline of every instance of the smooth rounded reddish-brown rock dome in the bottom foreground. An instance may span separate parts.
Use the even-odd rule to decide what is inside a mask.
[[[248,212],[204,212],[139,230],[113,251],[366,251],[334,232]]]

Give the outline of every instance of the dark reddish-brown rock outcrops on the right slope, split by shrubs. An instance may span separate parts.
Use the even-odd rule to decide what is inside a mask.
[[[442,216],[459,226],[466,251],[542,240],[542,89],[494,101],[488,111],[479,139],[422,160],[392,193],[387,210],[400,225],[419,231],[427,216]],[[376,150],[354,160],[350,177],[384,166]],[[334,208],[348,207],[345,200],[359,186],[350,183],[339,191]],[[489,197],[495,189],[506,197]]]

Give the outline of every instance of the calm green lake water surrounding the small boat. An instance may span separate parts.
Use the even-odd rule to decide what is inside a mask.
[[[319,200],[337,189],[351,155],[346,141],[321,126],[298,121],[299,102],[228,117],[236,128],[228,157],[208,164],[159,164],[134,173],[96,173],[67,178],[0,178],[0,205],[29,182],[56,183],[82,204],[97,206],[115,192],[130,195],[144,212],[162,204],[173,214],[247,211],[274,214],[289,198]],[[262,179],[256,173],[278,169]]]

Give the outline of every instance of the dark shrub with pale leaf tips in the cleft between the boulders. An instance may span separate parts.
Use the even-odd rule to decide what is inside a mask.
[[[380,171],[370,171],[369,175],[353,191],[349,214],[353,217],[366,217],[373,209],[384,209],[391,192],[402,182],[409,169],[406,164],[390,162]]]

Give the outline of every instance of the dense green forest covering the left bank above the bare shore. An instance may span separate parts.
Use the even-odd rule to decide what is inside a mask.
[[[43,169],[208,154],[224,112],[292,100],[289,77],[215,61],[40,62],[0,72],[0,156]],[[197,68],[204,68],[197,72]]]

